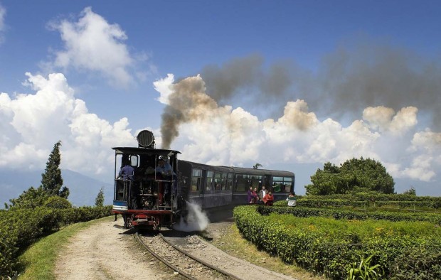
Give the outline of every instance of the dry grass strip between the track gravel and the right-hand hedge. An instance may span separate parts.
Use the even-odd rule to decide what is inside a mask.
[[[245,259],[257,266],[262,266],[266,269],[292,276],[299,280],[326,279],[322,276],[314,276],[295,264],[285,264],[279,258],[272,257],[266,252],[259,251],[255,245],[248,242],[248,240],[243,239],[235,225],[232,225],[230,230],[225,232],[221,238],[213,239],[211,243],[234,257]]]

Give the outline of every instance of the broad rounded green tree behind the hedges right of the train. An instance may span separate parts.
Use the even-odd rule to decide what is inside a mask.
[[[323,170],[311,176],[307,195],[331,195],[351,193],[354,190],[371,190],[378,193],[393,193],[395,182],[380,162],[373,159],[352,158],[340,167],[329,162]]]

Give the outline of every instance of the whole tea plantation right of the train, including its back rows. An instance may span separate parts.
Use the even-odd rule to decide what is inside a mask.
[[[441,199],[331,195],[235,208],[259,249],[329,279],[441,279]]]

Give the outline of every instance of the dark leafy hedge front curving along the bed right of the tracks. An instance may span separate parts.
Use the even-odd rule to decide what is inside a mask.
[[[383,279],[392,279],[408,273],[409,269],[402,267],[404,264],[413,266],[415,276],[424,277],[428,271],[433,275],[441,275],[440,262],[437,262],[440,254],[436,249],[441,247],[439,235],[433,238],[418,237],[400,234],[397,230],[393,233],[380,231],[381,234],[366,237],[344,229],[330,232],[326,227],[304,227],[296,225],[295,222],[285,224],[280,222],[280,219],[299,218],[289,215],[260,215],[258,208],[268,207],[256,208],[247,205],[235,208],[233,215],[243,237],[258,248],[280,257],[284,262],[296,262],[313,273],[324,274],[330,279],[344,279],[351,264],[373,256],[371,265],[379,264],[384,269],[386,276],[383,276]],[[325,218],[322,219],[326,221]],[[331,222],[329,218],[327,221]],[[430,227],[430,224],[425,226]],[[421,254],[418,257],[425,257],[420,259],[420,262],[426,262],[427,267],[418,269],[414,265],[417,258],[410,259],[406,252],[420,252],[421,248],[426,249],[427,255]]]

